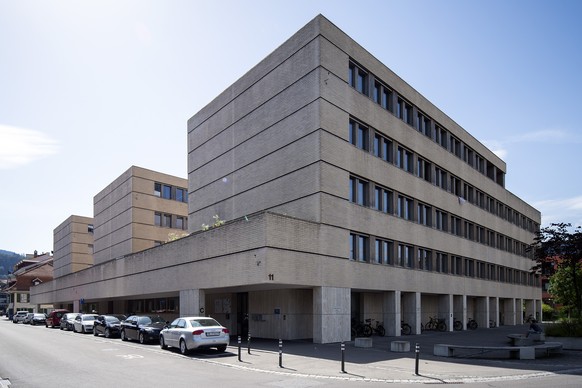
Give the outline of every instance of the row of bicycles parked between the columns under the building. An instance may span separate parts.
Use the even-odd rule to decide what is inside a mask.
[[[476,330],[479,327],[477,321],[473,318],[467,320],[467,329]],[[497,323],[493,320],[489,320],[489,328],[497,327]],[[382,322],[379,322],[373,318],[368,318],[364,322],[360,322],[356,319],[352,319],[352,338],[355,337],[370,337],[373,334],[377,334],[380,337],[386,335],[386,329]],[[453,321],[453,330],[460,331],[463,330],[463,322],[458,319]],[[421,333],[424,331],[447,331],[447,324],[444,318],[429,317],[428,322],[420,324]],[[412,326],[408,323],[402,321],[400,325],[400,333],[402,335],[412,334]]]

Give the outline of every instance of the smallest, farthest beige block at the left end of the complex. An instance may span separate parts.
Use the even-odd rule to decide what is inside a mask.
[[[58,278],[93,265],[93,218],[72,215],[53,231],[53,269]]]

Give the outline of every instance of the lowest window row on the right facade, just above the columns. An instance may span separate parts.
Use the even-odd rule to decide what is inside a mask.
[[[430,272],[486,279],[492,281],[538,286],[531,272],[487,263],[423,247],[350,233],[352,261],[399,266]]]

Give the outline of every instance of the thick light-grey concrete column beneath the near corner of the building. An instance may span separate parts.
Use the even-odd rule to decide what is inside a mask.
[[[351,340],[351,289],[313,289],[313,342],[326,344]]]

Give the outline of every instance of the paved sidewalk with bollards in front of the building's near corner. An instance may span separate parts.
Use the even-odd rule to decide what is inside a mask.
[[[564,350],[561,354],[536,360],[448,358],[433,356],[434,344],[479,346],[508,346],[507,334],[525,333],[528,326],[504,326],[463,332],[425,332],[403,337],[371,337],[372,348],[356,348],[354,342],[345,343],[344,371],[342,373],[340,344],[313,344],[309,341],[283,341],[279,366],[277,340],[252,339],[251,354],[246,339],[241,343],[241,361],[238,360],[236,339],[227,353],[194,353],[204,362],[228,365],[233,368],[290,374],[326,379],[379,381],[393,383],[479,382],[525,379],[554,373],[582,372],[582,352]],[[390,351],[390,342],[410,342],[410,352]],[[418,375],[415,373],[415,344],[420,346]]]

